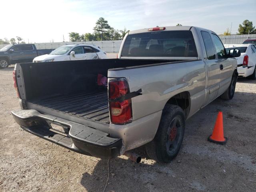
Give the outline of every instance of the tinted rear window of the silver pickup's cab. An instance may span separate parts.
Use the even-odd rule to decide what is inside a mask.
[[[126,37],[122,57],[197,57],[191,31],[153,31]]]

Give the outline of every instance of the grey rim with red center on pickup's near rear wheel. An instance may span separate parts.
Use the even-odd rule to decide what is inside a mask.
[[[170,123],[166,136],[166,151],[172,154],[176,151],[182,138],[182,123],[179,117],[175,117]]]

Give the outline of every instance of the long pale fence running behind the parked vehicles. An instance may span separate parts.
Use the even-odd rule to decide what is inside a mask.
[[[256,39],[256,34],[251,35],[230,35],[224,36],[219,35],[220,39],[222,40],[223,44],[242,44],[244,40],[247,38],[254,38]],[[115,40],[115,41],[84,41],[84,42],[56,42],[56,43],[35,43],[36,48],[38,49],[56,49],[62,45],[67,44],[94,44],[100,47],[107,53],[118,53],[121,47],[122,40]],[[3,48],[6,45],[0,44],[0,48]]]

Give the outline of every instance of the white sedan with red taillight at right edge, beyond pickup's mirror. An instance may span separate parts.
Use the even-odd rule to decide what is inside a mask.
[[[241,56],[237,57],[237,71],[238,77],[249,77],[256,79],[256,45],[255,44],[241,44],[240,46],[226,48],[226,50],[238,49]],[[232,54],[232,53],[231,53]]]

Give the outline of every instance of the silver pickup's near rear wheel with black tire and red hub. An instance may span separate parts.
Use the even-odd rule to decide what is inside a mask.
[[[185,130],[185,114],[176,105],[166,104],[154,140],[146,144],[148,156],[160,163],[174,159],[182,144]]]

